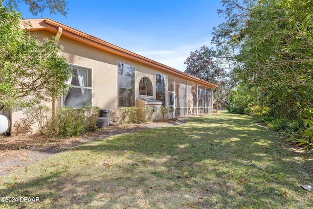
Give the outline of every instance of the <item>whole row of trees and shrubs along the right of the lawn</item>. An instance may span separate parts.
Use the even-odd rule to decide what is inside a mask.
[[[218,14],[225,21],[213,28],[216,47],[192,52],[185,72],[218,84],[214,98],[229,112],[257,116],[312,146],[313,1],[222,4]]]

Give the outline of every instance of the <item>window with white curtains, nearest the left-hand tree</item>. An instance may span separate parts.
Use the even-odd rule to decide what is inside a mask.
[[[72,87],[64,96],[67,107],[85,107],[91,105],[91,69],[70,64],[73,76],[67,81]]]

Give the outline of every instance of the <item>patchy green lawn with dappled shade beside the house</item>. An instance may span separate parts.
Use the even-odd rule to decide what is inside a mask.
[[[304,166],[249,116],[195,117],[178,126],[83,144],[0,178],[0,209],[309,209]],[[312,162],[312,161],[311,161]]]

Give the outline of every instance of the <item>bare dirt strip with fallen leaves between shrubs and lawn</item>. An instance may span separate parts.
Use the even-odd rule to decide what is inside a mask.
[[[88,141],[144,129],[178,125],[184,123],[187,119],[183,117],[176,121],[109,126],[105,129],[87,132],[79,137],[64,139],[42,135],[0,137],[0,177],[14,169],[25,167],[29,163],[39,161],[47,156],[71,149]]]

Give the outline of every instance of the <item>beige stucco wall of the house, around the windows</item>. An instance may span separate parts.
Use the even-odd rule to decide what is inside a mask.
[[[41,31],[38,34],[38,38],[51,38],[52,35],[54,34]],[[64,37],[61,37],[60,45],[64,47],[64,50],[61,52],[61,54],[67,59],[68,63],[92,69],[92,105],[97,105],[100,108],[107,108],[113,112],[118,108],[118,62],[135,67],[135,98],[139,96],[139,81],[143,76],[149,77],[152,81],[153,97],[142,95],[140,95],[140,97],[156,98],[156,73],[164,75],[166,86],[168,84],[168,73],[164,73],[152,67],[145,66],[133,60],[129,60],[127,58],[123,58],[92,46],[87,46],[73,40],[69,40]],[[168,101],[167,88],[165,95],[166,101]],[[52,103],[46,103],[46,105],[52,108]],[[55,108],[62,108],[62,102],[56,101]],[[27,116],[23,115],[22,111],[15,111],[12,113],[12,135],[19,134],[19,131],[14,128],[13,125],[25,118],[27,118]],[[31,127],[31,130],[33,134],[39,133],[37,123],[34,123],[34,125]]]

